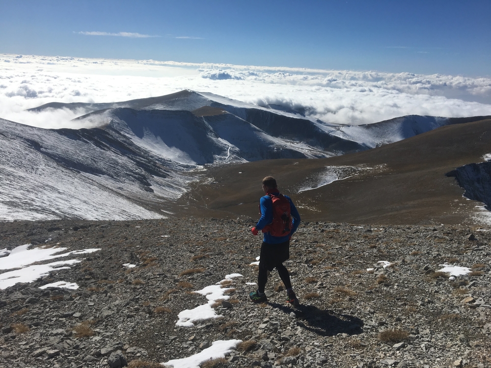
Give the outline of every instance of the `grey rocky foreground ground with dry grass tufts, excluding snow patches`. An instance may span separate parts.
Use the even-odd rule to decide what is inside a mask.
[[[0,290],[0,365],[158,367],[239,339],[225,359],[202,367],[491,367],[489,232],[302,223],[286,263],[302,303],[295,309],[284,303],[275,271],[269,302],[248,299],[260,247],[248,231],[253,224],[1,223],[0,250],[26,243],[101,249],[68,257],[84,257],[70,269]],[[449,280],[437,272],[443,263],[472,272]],[[206,303],[193,290],[232,273],[243,277],[228,282],[228,301],[216,303],[220,318],[176,326],[181,311]],[[39,289],[55,281],[80,288]]]

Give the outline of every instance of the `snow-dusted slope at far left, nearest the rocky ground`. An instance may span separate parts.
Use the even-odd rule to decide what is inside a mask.
[[[150,178],[128,147],[123,155],[83,133],[0,119],[1,220],[160,218],[136,201],[158,202],[151,184],[162,196],[183,192],[185,180],[179,187],[175,174]]]

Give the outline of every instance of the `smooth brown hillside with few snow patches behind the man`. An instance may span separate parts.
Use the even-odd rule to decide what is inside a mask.
[[[307,221],[468,223],[479,203],[465,199],[463,189],[445,174],[483,161],[491,152],[490,128],[491,120],[486,119],[339,157],[215,168],[180,199],[178,208],[204,216],[257,218],[261,179],[273,175]],[[332,179],[333,173],[341,180],[315,188]],[[315,189],[305,190],[309,187]]]

